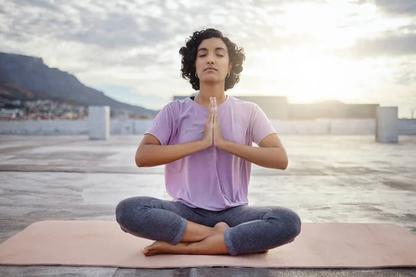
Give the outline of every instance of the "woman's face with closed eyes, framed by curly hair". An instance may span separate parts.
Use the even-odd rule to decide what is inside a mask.
[[[200,82],[224,82],[231,64],[229,63],[227,45],[223,39],[213,37],[202,40],[196,54],[196,75]],[[209,69],[212,67],[213,69]]]

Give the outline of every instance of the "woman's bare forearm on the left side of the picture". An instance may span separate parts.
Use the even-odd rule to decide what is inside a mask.
[[[174,145],[142,145],[136,152],[135,161],[140,168],[162,166],[206,148],[207,145],[203,141],[191,141]]]

